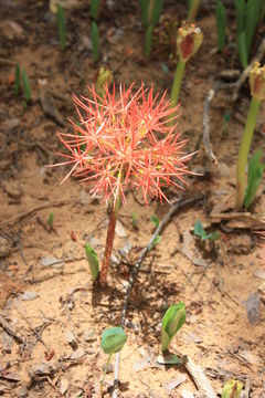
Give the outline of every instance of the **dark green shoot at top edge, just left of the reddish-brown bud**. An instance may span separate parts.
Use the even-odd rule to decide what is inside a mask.
[[[162,0],[140,0],[141,21],[146,29],[145,56],[151,53],[152,31],[162,11]]]

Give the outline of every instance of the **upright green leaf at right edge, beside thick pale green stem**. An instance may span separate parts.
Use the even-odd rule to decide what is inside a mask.
[[[253,202],[262,181],[263,172],[265,170],[265,164],[261,163],[262,157],[263,150],[257,149],[248,163],[247,187],[244,200],[245,209],[248,209]]]

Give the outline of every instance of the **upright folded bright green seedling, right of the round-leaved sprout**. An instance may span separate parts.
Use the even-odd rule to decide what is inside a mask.
[[[182,302],[172,304],[162,318],[161,350],[169,350],[172,338],[186,322],[186,306]]]

